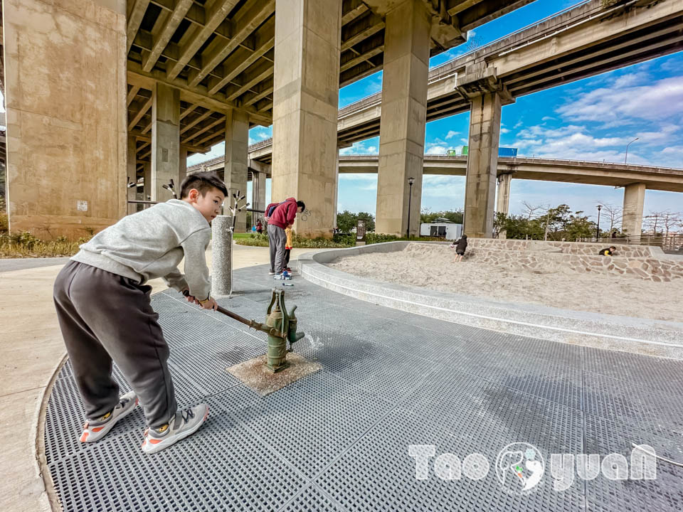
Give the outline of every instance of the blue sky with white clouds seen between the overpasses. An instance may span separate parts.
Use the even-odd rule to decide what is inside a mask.
[[[512,13],[470,31],[470,41],[485,45],[545,16],[575,4],[573,1],[536,0]],[[467,52],[468,45],[436,55],[440,65]],[[381,91],[381,73],[354,82],[339,91],[339,107]],[[467,144],[469,113],[427,124],[425,153],[445,154]],[[519,156],[544,156],[593,161],[624,161],[630,145],[630,163],[683,168],[683,52],[632,65],[629,68],[572,82],[533,95],[518,97],[502,109],[501,146],[516,147]],[[250,130],[250,142],[271,136],[272,129]],[[376,154],[379,139],[367,139],[342,149],[342,154]],[[223,144],[210,153],[193,155],[189,164],[223,154]],[[339,210],[369,211],[376,208],[376,174],[339,176]],[[422,206],[432,211],[462,208],[465,178],[425,176]],[[270,198],[270,180],[267,183]],[[567,203],[574,210],[593,215],[598,203],[621,206],[623,189],[608,186],[512,181],[510,213],[521,213],[523,202],[539,206]],[[647,191],[645,213],[683,212],[683,194]]]

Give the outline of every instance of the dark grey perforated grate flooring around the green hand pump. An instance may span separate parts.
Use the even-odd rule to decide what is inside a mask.
[[[265,319],[268,268],[234,273],[221,305]],[[138,409],[95,444],[78,442],[83,408],[71,366],[46,415],[46,459],[66,511],[641,511],[682,510],[683,470],[657,480],[575,478],[555,491],[551,453],[616,452],[631,442],[683,461],[683,362],[485,331],[329,292],[287,289],[307,337],[295,351],[322,371],[261,398],[226,367],[265,352],[265,335],[157,294],[179,405],[208,402],[208,422],[164,452],[140,450]],[[242,292],[239,292],[242,290]],[[122,393],[129,390],[115,368]],[[497,481],[500,449],[546,457],[531,494]],[[481,480],[415,479],[408,445],[484,454]],[[434,460],[434,459],[432,459]]]

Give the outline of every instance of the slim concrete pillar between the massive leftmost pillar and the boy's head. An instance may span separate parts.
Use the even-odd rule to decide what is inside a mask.
[[[180,168],[180,91],[156,82],[152,87],[152,201],[173,198],[164,188]]]

